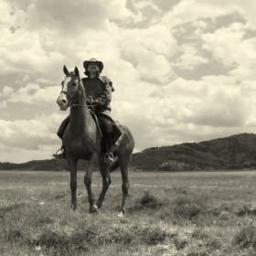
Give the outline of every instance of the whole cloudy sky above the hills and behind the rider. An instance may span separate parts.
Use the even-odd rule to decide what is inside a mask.
[[[256,2],[0,0],[0,162],[50,159],[63,66],[95,58],[134,152],[256,132]]]

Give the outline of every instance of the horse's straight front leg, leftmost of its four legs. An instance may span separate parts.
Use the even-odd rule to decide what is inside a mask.
[[[77,208],[77,164],[78,160],[71,158],[67,155],[67,161],[70,172],[70,190],[71,190],[71,208],[75,210]]]

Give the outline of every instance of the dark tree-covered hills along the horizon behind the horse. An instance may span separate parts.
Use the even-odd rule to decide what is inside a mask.
[[[78,169],[85,170],[86,161]],[[134,170],[213,170],[256,168],[256,134],[240,133],[200,143],[151,147],[133,154]],[[67,171],[66,161],[57,159],[29,161],[24,164],[1,163],[0,170]],[[97,164],[95,164],[95,169]]]

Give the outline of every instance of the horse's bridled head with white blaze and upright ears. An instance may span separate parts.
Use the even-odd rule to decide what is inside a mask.
[[[78,100],[80,93],[80,71],[75,67],[74,71],[69,72],[66,66],[63,67],[66,75],[61,82],[62,90],[60,91],[57,103],[61,111],[66,111],[69,106]]]

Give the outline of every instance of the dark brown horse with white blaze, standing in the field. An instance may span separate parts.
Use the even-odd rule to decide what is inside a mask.
[[[120,144],[115,145],[116,148],[114,149],[117,152],[117,160],[112,165],[105,164],[101,133],[86,104],[86,93],[80,80],[79,69],[76,67],[74,72],[69,72],[64,66],[63,70],[66,77],[61,82],[62,91],[57,103],[61,111],[66,111],[70,107],[69,125],[65,130],[62,142],[67,151],[66,158],[70,171],[71,208],[77,208],[77,163],[79,159],[84,159],[88,161],[84,184],[89,197],[89,212],[94,213],[97,212],[98,208],[101,208],[102,201],[112,182],[110,172],[120,167],[123,179],[123,202],[119,216],[123,216],[129,189],[128,168],[134,147],[133,134],[126,125],[116,122],[124,130]],[[92,163],[95,157],[98,158],[102,176],[101,195],[96,205],[91,191]]]

